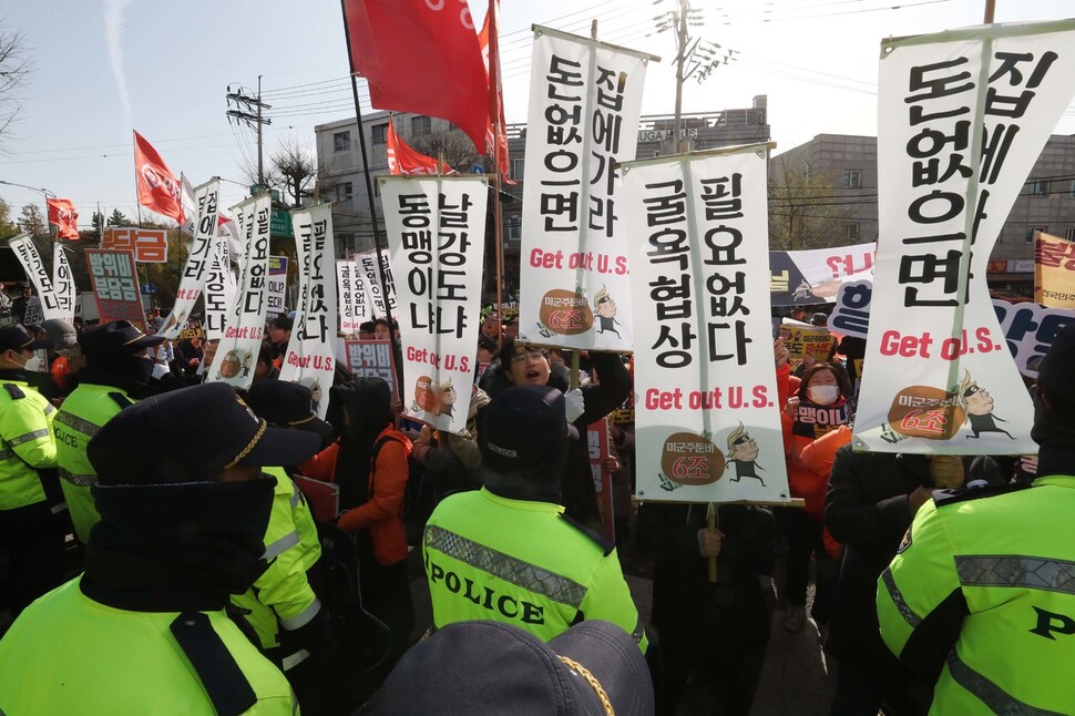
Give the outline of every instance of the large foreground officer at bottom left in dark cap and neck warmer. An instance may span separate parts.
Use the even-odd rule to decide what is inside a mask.
[[[85,573],[0,641],[7,714],[287,714],[287,679],[225,613],[264,570],[276,480],[318,439],[224,383],[149,398],[90,441],[101,521]]]

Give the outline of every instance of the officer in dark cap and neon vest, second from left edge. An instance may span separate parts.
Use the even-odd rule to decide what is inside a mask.
[[[112,416],[144,397],[153,375],[149,349],[164,342],[127,320],[95,326],[79,336],[85,368],[79,387],[63,401],[55,417],[60,487],[71,512],[74,532],[83,544],[100,519],[90,487],[96,473],[85,454],[90,439]]]

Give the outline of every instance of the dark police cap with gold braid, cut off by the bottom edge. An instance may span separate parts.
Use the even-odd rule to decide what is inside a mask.
[[[586,621],[543,643],[510,624],[449,624],[400,661],[359,714],[649,716],[646,662],[615,624]]]

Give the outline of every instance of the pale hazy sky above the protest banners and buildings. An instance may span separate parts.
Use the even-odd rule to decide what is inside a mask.
[[[458,0],[447,0],[453,2]],[[898,2],[898,4],[897,4]],[[777,153],[817,134],[877,134],[877,73],[887,37],[981,24],[985,0],[690,0],[692,33],[730,60],[688,80],[683,111],[747,108],[768,95]],[[662,58],[647,71],[643,114],[675,109],[675,43],[656,17],[677,0],[502,0],[509,122],[525,122],[532,24]],[[487,2],[471,0],[477,23]],[[1075,16],[1072,0],[996,0],[996,22]],[[35,65],[20,119],[0,136],[0,180],[70,198],[88,228],[100,205],[137,217],[132,130],[194,184],[219,176],[224,205],[247,195],[252,130],[229,124],[228,88],[272,105],[266,162],[281,142],[314,145],[314,126],[354,116],[340,4],[335,0],[11,0],[0,31],[25,35]],[[365,88],[360,90],[365,94]],[[364,110],[369,111],[368,96]],[[1056,133],[1075,133],[1075,105]],[[18,215],[40,192],[0,184]],[[160,218],[144,212],[146,218]]]

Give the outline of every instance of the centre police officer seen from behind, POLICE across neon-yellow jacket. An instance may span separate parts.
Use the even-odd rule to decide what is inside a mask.
[[[509,388],[485,408],[478,427],[484,488],[444,499],[426,525],[434,626],[493,620],[549,641],[597,618],[646,651],[615,548],[559,504],[570,430],[553,388]]]

